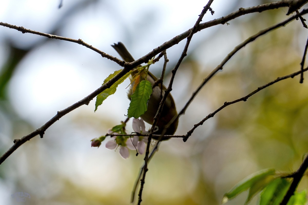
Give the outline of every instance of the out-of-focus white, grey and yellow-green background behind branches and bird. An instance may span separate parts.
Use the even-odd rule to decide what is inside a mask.
[[[240,7],[274,1],[215,0],[220,18]],[[122,41],[135,58],[191,28],[205,1],[2,1],[0,21],[27,29],[82,39],[118,57],[111,48]],[[192,92],[239,43],[259,30],[286,19],[287,8],[248,14],[202,30],[193,36],[188,56],[178,70],[172,95],[180,110]],[[305,16],[304,16],[305,17]],[[300,21],[245,46],[202,89],[181,116],[176,134],[225,101],[247,95],[258,86],[300,69],[307,30]],[[165,84],[185,41],[167,50]],[[160,75],[162,61],[151,66]],[[97,89],[120,66],[84,46],[0,26],[0,153],[57,111]],[[306,74],[305,74],[306,76]],[[119,151],[91,148],[92,138],[125,120],[126,87],[94,112],[95,100],[63,116],[46,132],[18,148],[0,166],[0,204],[130,204],[130,194],[143,156],[124,160]],[[287,79],[233,104],[197,128],[189,140],[161,144],[149,164],[142,204],[218,205],[225,192],[264,168],[294,171],[308,146],[308,83]],[[149,125],[148,125],[149,127]],[[128,132],[132,132],[128,123]],[[307,187],[304,178],[299,190]],[[17,202],[11,195],[30,194]],[[227,204],[243,204],[243,193]],[[257,197],[251,204],[257,204]]]

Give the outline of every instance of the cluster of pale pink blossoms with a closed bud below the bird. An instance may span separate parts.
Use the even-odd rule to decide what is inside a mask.
[[[134,132],[140,134],[148,134],[149,132],[145,130],[145,124],[142,119],[133,118],[132,127]],[[117,125],[112,129],[108,130],[109,134],[127,134],[125,132],[125,124]],[[99,147],[101,142],[106,138],[106,136],[101,136],[99,138],[92,139],[91,147]],[[148,142],[147,136],[134,136],[133,138],[129,136],[112,136],[113,140],[106,143],[106,148],[108,149],[120,149],[120,155],[127,159],[129,157],[129,149],[138,150],[140,154],[144,153],[145,144]]]

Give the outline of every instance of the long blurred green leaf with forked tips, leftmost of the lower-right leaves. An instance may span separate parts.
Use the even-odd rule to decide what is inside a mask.
[[[232,199],[239,195],[241,192],[250,189],[245,203],[247,204],[254,195],[264,189],[264,187],[266,187],[276,177],[277,176],[274,169],[264,169],[253,173],[246,179],[243,179],[241,182],[239,182],[231,191],[226,193],[222,199],[222,203],[226,203],[229,201],[229,199]]]

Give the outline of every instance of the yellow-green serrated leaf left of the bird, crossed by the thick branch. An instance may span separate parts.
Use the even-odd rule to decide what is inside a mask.
[[[115,77],[116,74],[120,73],[122,69],[115,71],[114,73],[110,74],[105,80],[104,83],[107,83],[109,80],[111,80],[111,78]],[[97,110],[97,107],[99,105],[101,105],[103,103],[103,101],[110,95],[114,94],[116,91],[116,88],[118,87],[118,85],[120,85],[126,78],[128,78],[128,76],[131,74],[131,71],[126,73],[123,77],[121,77],[118,81],[116,81],[113,85],[111,85],[110,88],[107,88],[106,90],[104,90],[103,92],[99,93],[96,97],[96,102],[95,102],[95,110],[94,112]]]

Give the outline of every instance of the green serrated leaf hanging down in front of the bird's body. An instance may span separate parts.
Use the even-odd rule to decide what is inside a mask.
[[[148,100],[152,94],[152,84],[148,80],[143,80],[136,87],[131,95],[131,103],[128,108],[128,117],[138,118],[148,109]]]

